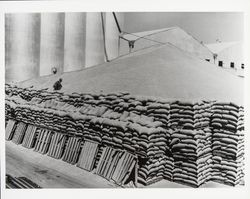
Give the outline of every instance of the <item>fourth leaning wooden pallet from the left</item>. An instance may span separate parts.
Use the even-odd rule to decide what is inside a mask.
[[[39,129],[34,151],[46,154],[51,142],[52,132],[46,129]]]

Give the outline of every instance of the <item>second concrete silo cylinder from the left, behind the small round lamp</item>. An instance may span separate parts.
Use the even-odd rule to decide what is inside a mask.
[[[41,14],[40,76],[63,70],[64,61],[64,13]]]

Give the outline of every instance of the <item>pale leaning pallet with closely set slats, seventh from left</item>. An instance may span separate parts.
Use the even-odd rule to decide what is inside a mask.
[[[86,140],[83,144],[77,166],[87,171],[92,171],[97,152],[98,143]]]

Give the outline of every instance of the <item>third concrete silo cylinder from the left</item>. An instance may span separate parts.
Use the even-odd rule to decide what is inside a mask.
[[[65,14],[64,72],[85,66],[86,13]]]

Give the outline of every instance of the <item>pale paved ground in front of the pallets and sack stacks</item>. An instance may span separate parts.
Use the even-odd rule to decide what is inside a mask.
[[[6,173],[14,176],[25,176],[43,188],[115,188],[115,184],[80,169],[62,160],[51,158],[6,142]],[[188,186],[161,180],[150,186],[140,188],[189,188]],[[209,182],[203,187],[228,187]]]

